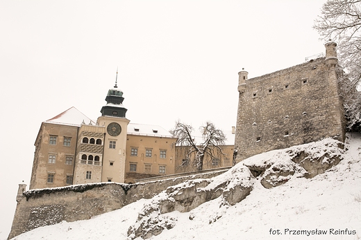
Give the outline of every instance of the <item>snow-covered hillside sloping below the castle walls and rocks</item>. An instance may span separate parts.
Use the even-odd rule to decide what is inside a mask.
[[[319,142],[307,148],[316,145]],[[260,154],[249,161],[276,160],[285,151]],[[254,178],[251,194],[235,205],[219,207],[217,198],[190,212],[162,214],[163,219],[173,219],[173,228],[151,239],[361,239],[360,173],[361,134],[352,133],[346,139],[343,159],[326,173],[313,178],[294,174],[285,184],[270,189]],[[14,239],[128,239],[129,227],[144,205],[153,201],[143,199],[87,221],[37,228]]]

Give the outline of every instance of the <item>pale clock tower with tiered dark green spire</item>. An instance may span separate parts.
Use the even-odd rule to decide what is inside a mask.
[[[126,134],[129,120],[123,106],[123,91],[117,82],[109,89],[107,104],[101,108],[101,117],[96,121],[106,128],[104,133],[103,167],[101,182],[124,183],[126,161]]]

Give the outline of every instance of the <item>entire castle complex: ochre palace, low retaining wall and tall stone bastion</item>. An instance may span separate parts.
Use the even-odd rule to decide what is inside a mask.
[[[344,109],[338,86],[342,73],[337,68],[336,44],[325,46],[326,57],[252,79],[246,71],[238,73],[234,151],[233,145],[224,146],[227,156],[212,160],[209,168],[234,165],[265,151],[322,138],[344,141]],[[135,185],[103,183],[134,183],[137,178],[185,172],[177,170],[183,159],[171,148],[176,139],[159,126],[129,123],[122,95],[115,84],[96,122],[75,108],[42,122],[35,141],[30,189],[69,187],[23,193],[26,185],[20,184],[9,237],[40,225],[89,219],[194,178],[186,174]],[[202,178],[220,173],[203,174]],[[72,186],[83,183],[99,185]],[[131,194],[127,196],[128,191]],[[90,211],[88,205],[97,207]],[[38,211],[47,207],[58,213],[58,219],[51,211]]]

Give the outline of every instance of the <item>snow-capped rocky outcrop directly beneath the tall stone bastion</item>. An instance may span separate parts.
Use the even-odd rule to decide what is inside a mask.
[[[344,144],[326,139],[299,145],[286,151],[269,151],[244,160],[255,177],[260,178],[263,187],[277,187],[297,177],[313,178],[323,174],[342,160]]]

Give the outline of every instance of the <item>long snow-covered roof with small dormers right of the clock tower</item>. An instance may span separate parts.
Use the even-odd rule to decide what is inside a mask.
[[[169,131],[163,129],[158,125],[137,124],[137,123],[129,123],[127,133],[131,135],[141,135],[141,136],[157,136],[157,137],[166,137],[166,138],[172,137]]]

